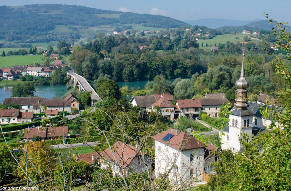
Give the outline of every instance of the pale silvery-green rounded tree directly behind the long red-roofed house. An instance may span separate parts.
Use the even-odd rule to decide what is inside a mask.
[[[189,79],[182,79],[174,88],[175,99],[191,99],[194,91]]]

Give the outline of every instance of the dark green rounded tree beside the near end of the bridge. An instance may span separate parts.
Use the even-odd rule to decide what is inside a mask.
[[[120,99],[121,92],[117,83],[110,79],[98,80],[96,83],[96,92],[102,98],[114,97],[116,100]]]

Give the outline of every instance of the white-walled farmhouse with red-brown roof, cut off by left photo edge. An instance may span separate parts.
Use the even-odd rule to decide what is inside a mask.
[[[1,124],[31,122],[32,112],[19,112],[18,109],[0,109]]]

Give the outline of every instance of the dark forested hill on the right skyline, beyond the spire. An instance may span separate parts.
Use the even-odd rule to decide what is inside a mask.
[[[274,27],[274,23],[269,23],[269,20],[262,21],[254,21],[249,24],[243,26],[222,26],[217,28],[219,31],[223,31],[223,33],[231,34],[231,33],[241,33],[243,30],[248,31],[272,31],[272,27]],[[285,26],[290,31],[290,26]]]

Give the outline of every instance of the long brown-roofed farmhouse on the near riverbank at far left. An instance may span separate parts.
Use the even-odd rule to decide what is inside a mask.
[[[42,113],[45,111],[47,99],[44,97],[9,97],[3,100],[3,104],[14,103],[21,106],[21,112]]]

